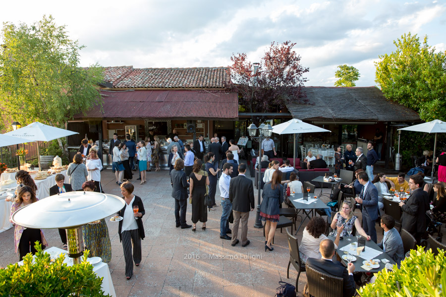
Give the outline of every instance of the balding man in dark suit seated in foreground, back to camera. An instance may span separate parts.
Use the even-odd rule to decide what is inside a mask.
[[[307,264],[312,268],[333,276],[341,277],[343,281],[343,297],[352,297],[356,293],[356,285],[353,279],[353,271],[355,270],[355,265],[353,263],[348,264],[345,269],[341,263],[333,261],[333,256],[335,255],[335,243],[331,239],[324,239],[319,244],[319,251],[321,252],[322,258],[308,258]]]

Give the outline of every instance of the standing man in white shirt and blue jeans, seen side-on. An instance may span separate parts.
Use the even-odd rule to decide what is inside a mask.
[[[232,203],[229,201],[229,183],[231,181],[232,164],[225,163],[223,165],[223,173],[219,180],[220,196],[222,197],[222,218],[220,219],[220,237],[229,237],[229,214],[231,213]],[[230,239],[230,237],[229,237]]]

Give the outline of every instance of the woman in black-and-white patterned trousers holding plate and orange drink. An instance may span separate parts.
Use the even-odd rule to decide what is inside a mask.
[[[132,258],[136,266],[141,262],[141,240],[145,237],[142,217],[146,212],[141,198],[132,194],[133,190],[132,183],[122,183],[121,194],[125,204],[118,212],[123,218],[119,221],[118,234],[124,249],[125,276],[128,280],[133,275]]]

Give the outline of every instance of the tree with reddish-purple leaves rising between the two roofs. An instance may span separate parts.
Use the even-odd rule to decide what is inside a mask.
[[[232,86],[239,91],[239,104],[247,112],[257,113],[251,116],[257,126],[267,118],[264,113],[278,112],[286,102],[308,102],[302,87],[307,81],[303,74],[309,69],[300,64],[294,46],[290,41],[281,45],[272,42],[255,72],[246,53],[231,56]]]

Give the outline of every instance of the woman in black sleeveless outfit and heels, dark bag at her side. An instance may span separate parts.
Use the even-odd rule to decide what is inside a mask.
[[[190,188],[189,199],[192,203],[192,223],[194,227],[192,231],[195,232],[196,224],[198,221],[203,223],[201,229],[206,230],[206,222],[208,221],[208,213],[206,212],[206,206],[204,205],[204,197],[206,195],[206,185],[209,185],[208,174],[201,169],[201,160],[194,161],[194,167],[190,174]]]

